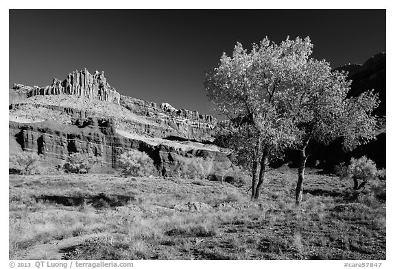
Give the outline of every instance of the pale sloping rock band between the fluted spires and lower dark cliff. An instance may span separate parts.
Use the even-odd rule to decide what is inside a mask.
[[[114,119],[117,129],[143,136],[171,140],[213,140],[214,126],[198,118],[169,116],[162,112],[156,112],[156,114],[145,112],[141,115],[147,113],[150,116],[140,116],[120,105],[88,102],[86,99],[75,97],[23,99],[17,103],[11,103],[9,112],[10,119],[14,121],[53,120],[70,124],[73,118],[103,117]]]

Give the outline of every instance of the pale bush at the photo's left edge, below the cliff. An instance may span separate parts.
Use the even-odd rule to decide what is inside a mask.
[[[34,175],[40,174],[39,171],[39,161],[40,156],[36,153],[13,153],[10,154],[9,162],[9,172],[10,174],[19,174],[19,175]]]

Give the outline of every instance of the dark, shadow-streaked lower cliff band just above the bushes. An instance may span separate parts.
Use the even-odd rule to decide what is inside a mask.
[[[211,174],[215,167],[228,168],[230,160],[219,151],[190,149],[184,151],[164,144],[152,145],[147,142],[120,136],[115,131],[115,121],[103,118],[77,118],[72,125],[60,125],[51,121],[42,123],[16,123],[10,121],[10,145],[18,151],[30,151],[66,159],[71,153],[93,154],[101,164],[117,168],[119,156],[130,149],[143,151],[154,160],[158,174],[177,176],[178,169],[194,157],[202,157],[211,162]]]

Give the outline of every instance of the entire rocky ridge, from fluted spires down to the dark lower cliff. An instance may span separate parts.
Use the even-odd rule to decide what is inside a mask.
[[[10,153],[93,154],[102,166],[117,168],[119,156],[136,149],[152,157],[163,176],[179,175],[194,158],[210,170],[230,166],[214,145],[200,143],[213,140],[213,116],[121,96],[103,72],[74,71],[43,88],[14,84],[9,103]]]

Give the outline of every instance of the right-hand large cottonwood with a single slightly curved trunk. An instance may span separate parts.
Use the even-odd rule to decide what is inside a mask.
[[[293,75],[279,99],[283,114],[294,122],[298,133],[300,164],[295,198],[299,205],[309,143],[315,140],[327,145],[341,138],[344,149],[353,149],[374,139],[376,117],[372,111],[379,99],[372,91],[347,98],[351,81],[346,79],[346,73],[333,71],[325,60],[310,59]]]

